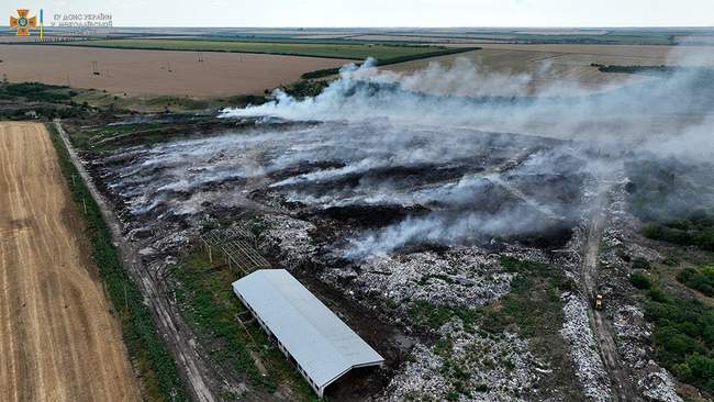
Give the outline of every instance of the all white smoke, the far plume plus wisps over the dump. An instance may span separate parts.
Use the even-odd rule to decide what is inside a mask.
[[[711,52],[692,56],[691,48],[681,54],[673,52],[671,57],[669,64],[676,66],[712,66],[714,62]],[[533,74],[514,75],[489,71],[459,59],[450,67],[431,64],[424,70],[400,75],[365,63],[344,68],[339,79],[317,97],[298,100],[277,91],[275,101],[227,109],[223,115],[347,122],[341,123],[342,129],[336,129],[341,135],[330,137],[327,145],[325,138],[315,137],[314,148],[309,146],[289,155],[292,160],[288,165],[298,160],[342,163],[275,183],[276,188],[289,187],[291,201],[323,208],[437,206],[426,215],[411,216],[353,238],[346,252],[352,258],[388,253],[415,242],[451,244],[548,230],[554,220],[567,220],[588,205],[549,197],[546,183],[543,193],[534,193],[533,189],[526,193],[520,187],[525,183],[527,188],[533,177],[548,180],[558,175],[582,174],[606,178],[622,166],[622,161],[587,157],[584,148],[605,149],[606,154],[620,157],[638,150],[693,160],[711,160],[714,156],[714,93],[703,81],[702,70],[682,68],[663,77],[634,75],[628,81],[604,86],[600,93],[592,94],[572,82],[543,85],[538,80],[549,74],[547,69],[545,66]],[[551,150],[547,153],[526,153],[529,157],[505,176],[498,170],[467,171],[459,178],[433,185],[362,177],[356,186],[339,185],[341,178],[375,169],[428,161],[436,166],[462,163],[469,154],[479,155],[493,145],[482,142],[479,132],[577,139],[580,145],[570,148],[567,143],[550,144]],[[506,155],[514,157],[516,153],[512,149]],[[560,159],[568,156],[579,161],[569,166],[574,170],[564,171]],[[308,189],[310,183],[331,181],[334,186],[327,190],[315,193]],[[585,191],[577,182],[564,185],[572,187],[566,188],[566,193],[572,192],[577,198],[579,191]],[[484,194],[493,191],[518,202],[506,202],[491,213],[473,205],[488,202]]]

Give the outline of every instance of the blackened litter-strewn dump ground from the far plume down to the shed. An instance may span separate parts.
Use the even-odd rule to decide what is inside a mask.
[[[570,247],[596,181],[590,148],[570,142],[388,122],[181,119],[85,138],[112,145],[88,145],[83,158],[125,236],[163,276],[207,225],[256,226],[268,260],[387,358],[386,369],[333,384],[338,401],[392,398],[413,346],[443,338],[410,319],[413,303],[489,304],[510,283],[494,256],[547,259]],[[160,138],[136,145],[136,132]],[[516,366],[523,387],[543,376]]]

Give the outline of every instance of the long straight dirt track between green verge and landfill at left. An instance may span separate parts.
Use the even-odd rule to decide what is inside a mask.
[[[59,121],[55,121],[71,160],[87,183],[87,188],[99,205],[102,216],[112,232],[112,238],[116,244],[122,264],[130,271],[136,281],[145,302],[152,311],[154,322],[158,331],[164,335],[179,367],[179,372],[188,384],[192,399],[202,402],[214,402],[217,398],[213,394],[210,379],[216,376],[210,370],[210,365],[204,361],[201,353],[196,348],[194,336],[190,326],[181,317],[178,306],[169,298],[168,289],[160,278],[155,278],[142,264],[137,250],[122,236],[122,226],[116,219],[108,201],[99,192],[91,177],[81,164],[77,153],[69,143],[67,133]]]

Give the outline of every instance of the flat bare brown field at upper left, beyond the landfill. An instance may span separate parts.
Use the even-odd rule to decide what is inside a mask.
[[[74,46],[0,45],[0,74],[11,82],[38,81],[132,96],[189,97],[263,92],[300,75],[349,60],[263,54],[138,51]],[[97,62],[97,72],[93,72]]]

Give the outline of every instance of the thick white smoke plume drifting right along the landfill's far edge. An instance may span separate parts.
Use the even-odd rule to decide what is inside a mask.
[[[702,57],[707,58],[700,60],[689,52],[685,59],[670,63],[692,66],[711,58]],[[543,75],[547,76],[543,71],[515,76],[493,72],[466,59],[446,68],[432,64],[408,75],[365,64],[343,71],[341,79],[317,97],[295,100],[278,90],[274,102],[226,110],[224,115],[350,122],[383,118],[394,124],[467,126],[637,144],[698,127],[712,114],[712,76],[696,68],[666,77],[632,75],[604,85],[598,93],[555,79],[544,83]]]

